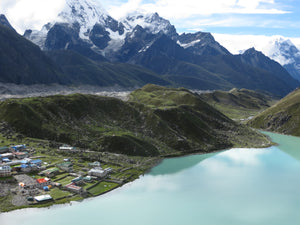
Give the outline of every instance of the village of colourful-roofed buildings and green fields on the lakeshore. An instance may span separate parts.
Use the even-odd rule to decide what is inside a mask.
[[[45,146],[37,150],[26,144],[1,147],[0,212],[104,194],[137,179],[153,159],[145,162],[68,145],[48,151]]]

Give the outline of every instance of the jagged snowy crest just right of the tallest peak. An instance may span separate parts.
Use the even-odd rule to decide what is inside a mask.
[[[133,30],[137,25],[150,31],[153,34],[163,32],[164,34],[176,35],[176,30],[170,21],[160,17],[158,13],[146,13],[138,10],[129,13],[125,18],[121,19],[127,31]]]

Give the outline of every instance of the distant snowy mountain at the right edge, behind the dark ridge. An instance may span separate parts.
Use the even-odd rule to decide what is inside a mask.
[[[300,51],[289,39],[271,40],[262,48],[264,54],[279,62],[294,78],[300,80]]]

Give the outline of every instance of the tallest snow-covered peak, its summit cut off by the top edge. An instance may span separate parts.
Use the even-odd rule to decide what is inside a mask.
[[[105,50],[120,47],[124,26],[95,0],[66,0],[55,21],[40,31],[27,30],[24,36],[44,50],[72,49],[97,59]]]

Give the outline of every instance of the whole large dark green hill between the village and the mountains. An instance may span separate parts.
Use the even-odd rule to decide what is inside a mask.
[[[0,121],[25,136],[128,155],[267,143],[263,135],[238,125],[197,95],[155,85],[133,92],[129,102],[82,94],[9,99],[0,103]]]

